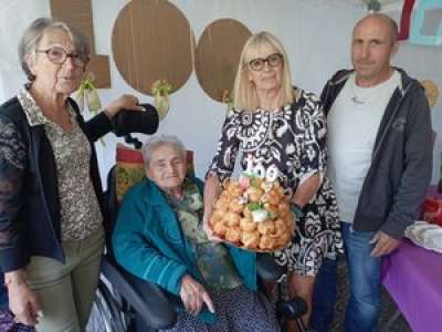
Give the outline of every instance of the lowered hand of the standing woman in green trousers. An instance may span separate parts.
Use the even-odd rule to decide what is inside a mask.
[[[9,309],[15,321],[25,325],[36,325],[41,315],[40,304],[25,280],[24,271],[4,273],[4,283],[8,287]]]

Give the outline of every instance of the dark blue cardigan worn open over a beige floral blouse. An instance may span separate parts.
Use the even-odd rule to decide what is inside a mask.
[[[78,125],[91,144],[91,179],[104,212],[94,142],[113,128],[112,122],[103,112],[85,122],[75,102],[69,102],[77,113]],[[31,256],[44,256],[64,262],[65,257],[60,242],[56,165],[44,127],[29,125],[17,97],[0,106],[0,121],[12,125],[27,146],[24,172],[14,169],[11,165],[2,165],[4,158],[0,158],[0,207],[8,206],[8,195],[18,196],[14,200],[17,206],[7,210],[0,209],[0,269],[3,272],[20,269],[29,263]],[[8,193],[8,185],[14,179],[21,184],[12,185],[14,188],[10,190],[17,191]]]

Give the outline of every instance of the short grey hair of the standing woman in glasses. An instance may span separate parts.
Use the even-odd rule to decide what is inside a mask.
[[[31,25],[28,27],[19,42],[19,59],[21,62],[21,68],[27,74],[28,80],[31,82],[35,80],[35,76],[31,73],[25,58],[27,55],[35,56],[35,50],[48,29],[63,30],[71,38],[75,46],[75,51],[81,54],[81,56],[84,56],[86,60],[85,62],[87,62],[90,56],[90,44],[84,34],[61,21],[54,21],[49,18],[36,19],[31,23]]]

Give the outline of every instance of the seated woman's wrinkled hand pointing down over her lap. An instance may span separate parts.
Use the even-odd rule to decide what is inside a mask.
[[[186,310],[193,315],[197,315],[206,303],[210,312],[214,313],[214,307],[209,293],[202,287],[201,283],[197,282],[192,277],[186,274],[181,279],[180,297]]]

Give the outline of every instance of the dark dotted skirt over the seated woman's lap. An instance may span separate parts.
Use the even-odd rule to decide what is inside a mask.
[[[211,291],[215,307],[217,322],[204,324],[196,317],[182,312],[177,324],[167,332],[207,331],[207,332],[271,332],[278,331],[274,310],[259,293],[238,287],[232,290]]]

